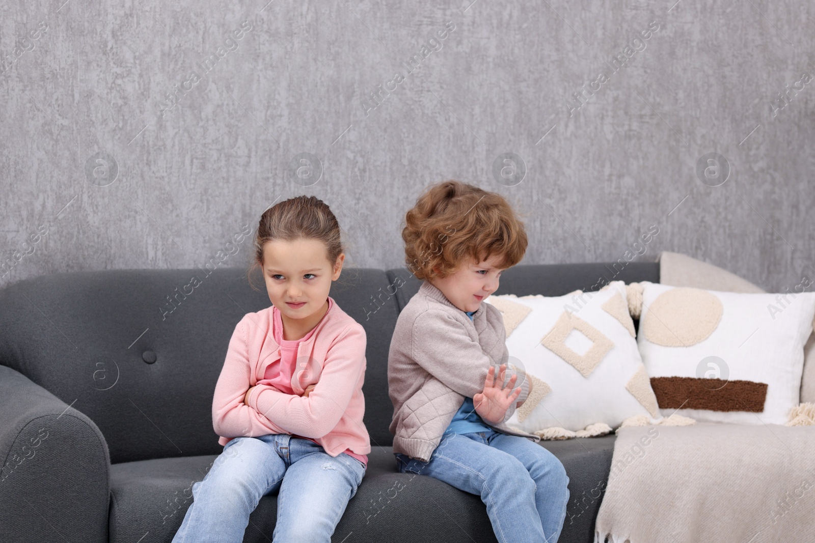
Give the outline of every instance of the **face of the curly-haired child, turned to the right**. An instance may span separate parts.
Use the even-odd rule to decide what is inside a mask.
[[[430,284],[442,291],[458,309],[476,311],[481,300],[498,290],[498,278],[504,271],[496,267],[500,261],[500,255],[493,255],[478,264],[465,262],[456,273],[446,278],[435,278]]]

